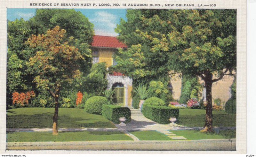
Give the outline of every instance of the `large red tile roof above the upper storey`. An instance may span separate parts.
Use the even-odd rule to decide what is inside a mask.
[[[102,35],[94,35],[91,45],[93,47],[127,48],[127,46],[124,43],[118,41],[116,37]]]

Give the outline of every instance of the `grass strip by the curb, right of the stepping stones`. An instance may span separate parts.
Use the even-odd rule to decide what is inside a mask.
[[[170,130],[177,136],[183,136],[187,139],[220,139],[236,138],[236,130],[221,130],[220,133],[204,133],[197,130]]]

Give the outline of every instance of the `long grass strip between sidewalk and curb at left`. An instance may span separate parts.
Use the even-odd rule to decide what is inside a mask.
[[[104,141],[133,140],[119,131],[83,131],[60,132],[8,132],[7,142],[38,142],[38,141]]]

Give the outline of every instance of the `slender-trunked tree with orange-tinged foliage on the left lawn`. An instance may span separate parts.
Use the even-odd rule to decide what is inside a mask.
[[[57,135],[59,95],[64,84],[70,84],[80,77],[78,61],[84,59],[75,46],[69,45],[73,38],[66,39],[66,30],[59,26],[48,30],[46,34],[32,35],[26,42],[36,50],[27,62],[29,73],[35,75],[34,82],[38,88],[45,88],[54,98],[52,134]]]

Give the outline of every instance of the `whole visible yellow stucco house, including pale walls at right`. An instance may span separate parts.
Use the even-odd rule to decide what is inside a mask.
[[[93,36],[92,47],[92,63],[106,62],[110,67],[115,65],[116,62],[113,58],[113,54],[118,48],[126,49],[127,46],[118,41],[116,37],[111,36]],[[176,74],[174,77],[170,77],[170,83],[168,89],[172,92],[172,96],[175,100],[180,99],[181,94],[181,79],[177,77],[180,74]],[[123,104],[123,106],[132,106],[132,78],[124,76],[120,72],[113,72],[113,74],[107,75],[108,89],[116,88],[113,95],[114,103]],[[231,85],[234,81],[234,77],[231,75],[225,75],[223,79],[214,82],[212,84],[212,99],[220,98],[223,102],[227,102],[231,95]],[[204,87],[204,81],[199,78],[199,82]],[[202,99],[206,101],[205,87],[202,91]]]

